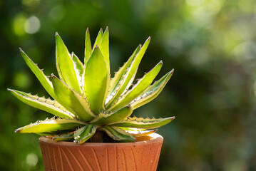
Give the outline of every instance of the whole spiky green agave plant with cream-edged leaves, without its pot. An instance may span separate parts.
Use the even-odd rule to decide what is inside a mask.
[[[155,132],[155,128],[170,123],[170,118],[131,117],[133,110],[153,100],[163,90],[173,70],[150,85],[158,75],[160,61],[143,78],[134,81],[150,37],[138,46],[128,61],[111,78],[108,48],[108,27],[102,29],[93,46],[86,31],[84,64],[74,53],[69,53],[56,33],[56,66],[58,76],[45,76],[21,50],[21,56],[41,82],[51,98],[39,97],[19,90],[8,89],[24,103],[55,115],[15,130],[16,133],[36,133],[53,140],[87,140],[102,142],[103,135],[111,140],[134,142],[136,137]]]

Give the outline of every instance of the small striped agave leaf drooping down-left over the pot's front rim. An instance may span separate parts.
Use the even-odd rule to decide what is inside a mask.
[[[96,133],[97,125],[86,125],[76,130],[74,139],[78,144],[83,144],[86,140],[89,140]]]

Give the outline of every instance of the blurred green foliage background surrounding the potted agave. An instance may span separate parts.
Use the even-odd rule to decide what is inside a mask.
[[[175,68],[163,93],[135,110],[176,116],[158,130],[165,138],[158,170],[256,170],[256,1],[0,0],[0,10],[0,170],[43,170],[39,136],[14,130],[51,117],[6,90],[48,96],[18,48],[49,75],[55,31],[83,58],[86,27],[94,39],[106,26],[111,71],[148,36],[138,77],[161,59],[159,77]]]

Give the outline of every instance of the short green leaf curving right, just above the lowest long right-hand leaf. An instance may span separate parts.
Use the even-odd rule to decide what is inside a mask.
[[[126,106],[113,113],[109,113],[109,114],[100,113],[98,117],[92,120],[90,123],[93,123],[96,125],[105,125],[108,123],[113,123],[119,120],[123,120],[128,116],[130,116],[132,113],[133,113],[133,108],[130,108],[130,106]]]

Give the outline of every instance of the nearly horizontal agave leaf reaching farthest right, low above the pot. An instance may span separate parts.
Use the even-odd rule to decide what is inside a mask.
[[[118,126],[118,127],[128,127],[128,128],[158,128],[160,126],[163,126],[165,124],[170,123],[172,120],[174,120],[175,117],[170,118],[160,118],[160,119],[149,119],[149,118],[127,118],[126,120],[121,120],[116,123],[111,123],[109,126]]]

